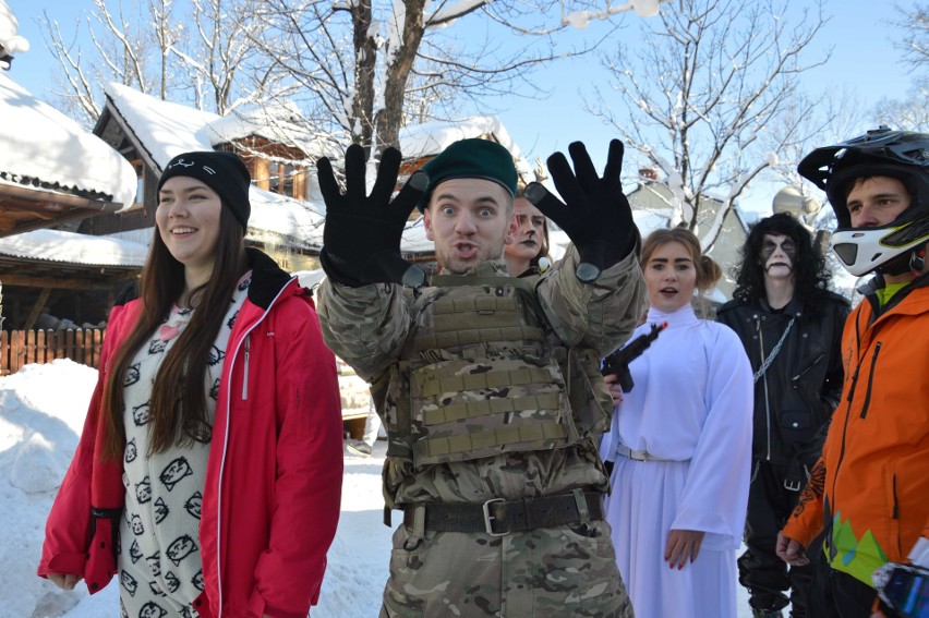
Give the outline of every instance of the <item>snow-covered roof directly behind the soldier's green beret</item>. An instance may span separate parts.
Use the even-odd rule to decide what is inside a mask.
[[[500,120],[493,116],[473,116],[455,122],[433,121],[405,126],[400,130],[400,152],[407,159],[429,157],[439,154],[454,142],[482,135],[493,135],[510,152],[516,162],[516,171],[524,182],[535,180],[519,147],[510,138]]]

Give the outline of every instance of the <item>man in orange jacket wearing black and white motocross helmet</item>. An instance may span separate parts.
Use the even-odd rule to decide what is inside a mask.
[[[824,529],[816,615],[880,616],[876,571],[929,564],[929,134],[881,126],[797,170],[827,192],[845,268],[876,276],[845,323],[842,398],[776,552],[803,565]]]

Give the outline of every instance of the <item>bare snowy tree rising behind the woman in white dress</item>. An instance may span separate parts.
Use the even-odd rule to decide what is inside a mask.
[[[646,45],[603,54],[612,89],[598,89],[589,109],[664,171],[672,225],[693,230],[705,250],[746,186],[805,137],[783,119],[815,105],[797,99],[797,82],[828,58],[807,58],[825,17],[821,1],[795,7],[795,19],[789,5],[673,0],[660,20],[639,22]],[[723,203],[713,217],[701,213],[710,196]]]

